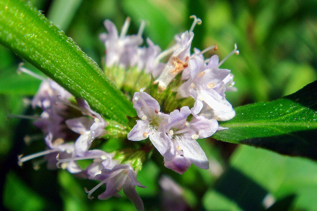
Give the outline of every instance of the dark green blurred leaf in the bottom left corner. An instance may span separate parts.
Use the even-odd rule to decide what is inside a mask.
[[[9,172],[3,189],[3,204],[8,210],[43,210],[45,201],[34,193],[16,174]]]

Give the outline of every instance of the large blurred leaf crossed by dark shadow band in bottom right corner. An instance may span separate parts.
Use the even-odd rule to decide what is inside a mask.
[[[316,189],[314,161],[240,145],[203,203],[206,210],[264,210],[272,203],[271,210],[316,210]]]

